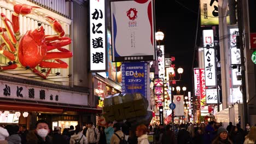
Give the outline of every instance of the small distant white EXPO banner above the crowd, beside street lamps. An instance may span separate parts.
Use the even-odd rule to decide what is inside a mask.
[[[175,116],[184,116],[183,95],[173,95],[173,103],[176,105],[174,110]]]

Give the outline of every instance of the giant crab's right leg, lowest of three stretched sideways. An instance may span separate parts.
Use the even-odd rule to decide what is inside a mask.
[[[68,67],[68,64],[61,61],[60,59],[55,59],[55,61],[57,62],[45,62],[45,61],[42,61],[40,64],[39,64],[39,67],[42,67],[42,68],[67,68]]]

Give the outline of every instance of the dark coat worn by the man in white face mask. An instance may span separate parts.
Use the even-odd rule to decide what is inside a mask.
[[[34,130],[29,131],[27,134],[27,144],[53,144],[50,136],[45,137],[45,141],[35,133]]]

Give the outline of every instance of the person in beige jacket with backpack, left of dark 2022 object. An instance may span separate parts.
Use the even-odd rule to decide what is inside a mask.
[[[95,128],[94,123],[88,123],[88,130],[86,131],[86,137],[89,144],[98,144],[100,141],[100,132]]]

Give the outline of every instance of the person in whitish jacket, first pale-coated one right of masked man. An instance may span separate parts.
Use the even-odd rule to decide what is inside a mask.
[[[55,144],[55,143],[54,143]],[[88,144],[87,138],[84,136],[80,126],[75,126],[74,134],[71,136],[70,144]]]

